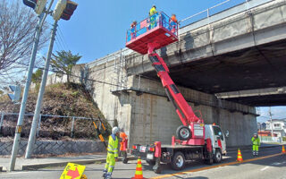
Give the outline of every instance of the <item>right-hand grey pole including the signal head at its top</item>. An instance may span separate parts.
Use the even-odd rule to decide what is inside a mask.
[[[78,4],[76,4],[74,2],[66,1],[66,0],[59,0],[57,2],[57,4],[55,5],[55,10],[53,13],[53,18],[55,20],[55,23],[54,23],[54,28],[52,30],[50,45],[49,45],[48,52],[46,55],[45,69],[44,69],[44,73],[43,73],[43,77],[42,77],[42,81],[41,81],[40,90],[38,92],[38,100],[37,100],[37,105],[35,108],[32,126],[31,126],[31,129],[29,132],[29,141],[28,141],[28,146],[26,149],[25,158],[30,158],[32,155],[33,149],[34,149],[36,132],[37,132],[37,127],[38,127],[38,118],[40,115],[42,101],[43,101],[45,87],[46,87],[47,72],[49,69],[51,55],[52,55],[53,47],[54,47],[55,31],[56,31],[56,27],[57,27],[57,21],[59,21],[60,19],[63,19],[66,21],[70,20],[71,15],[72,15],[73,11],[76,9],[77,5]]]

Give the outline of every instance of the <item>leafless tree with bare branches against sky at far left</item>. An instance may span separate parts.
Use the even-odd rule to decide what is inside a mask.
[[[0,83],[19,77],[29,65],[37,25],[36,13],[21,1],[0,1]],[[38,50],[48,40],[46,32],[44,27]]]

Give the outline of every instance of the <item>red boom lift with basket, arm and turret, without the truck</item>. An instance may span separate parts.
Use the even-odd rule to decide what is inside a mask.
[[[156,54],[155,49],[167,46],[178,40],[178,24],[163,12],[156,13],[127,31],[126,47],[148,54],[149,60],[156,69],[157,76],[161,79],[166,94],[176,113],[181,119],[177,134],[180,140],[172,139],[172,143],[182,145],[205,145],[204,120],[195,115],[188,102],[181,95],[169,75],[169,68],[164,59]],[[182,141],[181,141],[182,140]]]

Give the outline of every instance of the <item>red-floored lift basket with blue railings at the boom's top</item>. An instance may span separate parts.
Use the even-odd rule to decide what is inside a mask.
[[[165,47],[178,40],[178,23],[163,12],[156,13],[127,30],[126,47],[144,55],[149,43],[155,49]]]

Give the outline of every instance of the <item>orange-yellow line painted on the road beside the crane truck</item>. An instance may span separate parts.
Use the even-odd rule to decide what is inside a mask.
[[[281,155],[283,155],[283,153],[273,154],[273,155],[265,156],[265,157],[261,157],[261,158],[246,159],[246,160],[243,160],[242,162],[235,161],[235,162],[229,162],[229,163],[220,164],[220,165],[216,165],[216,166],[206,166],[206,167],[202,167],[202,168],[192,169],[192,170],[189,170],[186,172],[179,172],[179,173],[175,173],[175,174],[155,176],[155,177],[151,177],[150,179],[166,178],[166,177],[171,177],[171,176],[176,176],[176,175],[188,175],[188,174],[191,174],[194,172],[208,170],[208,169],[212,169],[212,168],[216,168],[216,167],[220,167],[220,166],[231,166],[231,165],[235,165],[235,164],[242,164],[242,163],[246,163],[246,162],[256,161],[256,160],[260,160],[260,159],[264,159],[264,158],[273,158],[273,157],[281,156]]]

